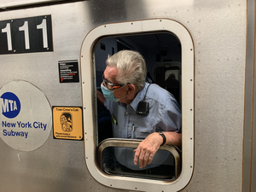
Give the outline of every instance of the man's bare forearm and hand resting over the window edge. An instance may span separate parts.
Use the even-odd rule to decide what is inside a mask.
[[[180,147],[182,145],[182,134],[176,131],[163,132],[166,136],[165,144],[172,144]],[[163,137],[158,132],[154,132],[146,137],[143,142],[134,150],[134,164],[137,165],[139,160],[139,167],[143,168],[150,164],[154,158],[154,154],[163,143]]]

